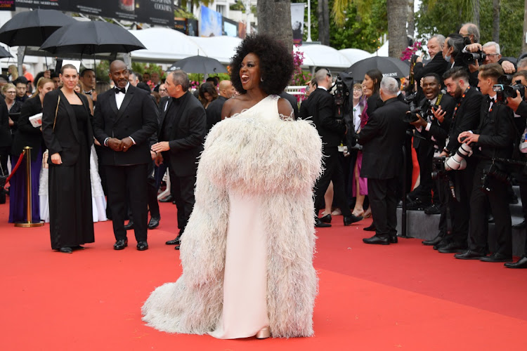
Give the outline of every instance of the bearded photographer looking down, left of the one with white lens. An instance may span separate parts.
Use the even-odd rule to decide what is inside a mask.
[[[462,67],[455,67],[445,72],[443,84],[445,84],[448,94],[457,102],[448,133],[448,144],[440,154],[440,156],[446,157],[450,153],[455,154],[460,147],[461,143],[457,141],[460,133],[474,130],[479,126],[479,110],[483,95],[469,85],[469,72]],[[456,253],[467,248],[469,201],[476,160],[469,157],[466,162],[466,168],[455,171],[451,177],[454,179],[456,192],[456,199],[450,201],[450,216],[453,218],[453,227],[450,235],[445,235],[441,242],[434,246],[434,249],[438,249],[438,252],[441,253]]]

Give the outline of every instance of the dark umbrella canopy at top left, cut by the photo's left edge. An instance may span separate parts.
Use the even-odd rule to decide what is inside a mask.
[[[17,13],[0,27],[0,41],[8,46],[41,46],[57,29],[74,22],[56,10]]]

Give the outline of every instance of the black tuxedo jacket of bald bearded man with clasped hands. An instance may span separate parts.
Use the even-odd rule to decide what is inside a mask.
[[[131,137],[136,142],[126,152],[116,152],[103,146],[100,164],[126,166],[151,162],[148,140],[157,131],[156,108],[147,91],[131,85],[126,90],[119,110],[115,102],[115,90],[110,89],[98,95],[93,115],[93,134],[100,145],[104,145],[106,138]]]

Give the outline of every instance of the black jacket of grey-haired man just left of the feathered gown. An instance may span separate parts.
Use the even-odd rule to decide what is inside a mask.
[[[174,98],[169,98],[168,107],[160,117],[158,138],[168,141],[170,150],[163,152],[170,162],[171,169],[178,177],[193,176],[197,171],[197,158],[203,151],[203,141],[207,133],[207,115],[200,100],[192,93],[185,93],[177,109],[171,109]],[[168,113],[175,113],[171,119],[171,133],[169,140],[162,138],[164,120],[169,118]]]

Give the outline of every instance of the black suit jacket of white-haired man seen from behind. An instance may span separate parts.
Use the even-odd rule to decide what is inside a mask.
[[[358,133],[358,143],[363,145],[361,177],[391,179],[398,176],[408,128],[403,119],[408,110],[404,102],[391,98],[370,114],[367,124]]]

